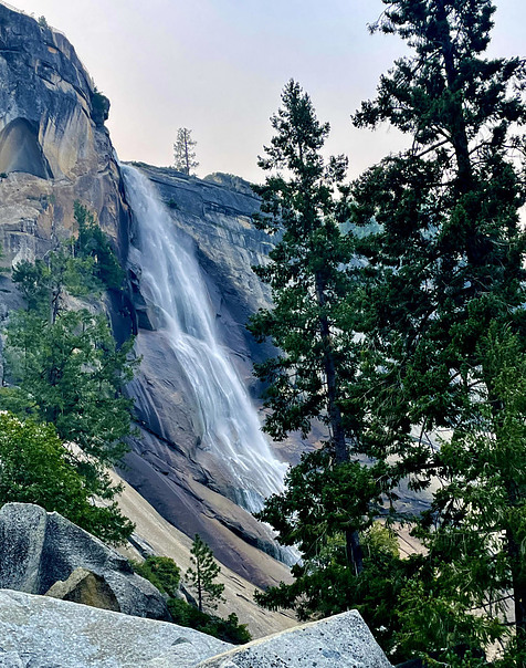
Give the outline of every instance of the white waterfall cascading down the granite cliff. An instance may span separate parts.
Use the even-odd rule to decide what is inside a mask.
[[[141,292],[162,314],[170,345],[193,388],[203,447],[229,469],[236,501],[261,510],[283,490],[280,462],[260,429],[257,413],[221,346],[208,291],[189,239],[173,225],[155,187],[122,166],[126,196],[138,223]]]

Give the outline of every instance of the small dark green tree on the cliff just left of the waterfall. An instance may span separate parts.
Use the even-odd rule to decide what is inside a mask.
[[[74,207],[75,220],[78,225],[78,237],[75,243],[77,257],[93,261],[93,273],[103,285],[113,290],[120,290],[125,272],[120,268],[106,236],[86,207],[81,205],[80,201],[75,201]]]

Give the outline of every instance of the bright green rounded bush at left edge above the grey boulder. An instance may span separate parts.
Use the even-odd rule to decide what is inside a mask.
[[[116,503],[97,507],[74,457],[52,425],[0,414],[0,504],[36,503],[56,511],[108,543],[124,542],[134,526]]]

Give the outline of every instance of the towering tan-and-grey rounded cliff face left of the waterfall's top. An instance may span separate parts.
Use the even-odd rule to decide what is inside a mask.
[[[73,46],[0,4],[0,81],[2,263],[32,261],[69,237],[75,200],[124,253],[127,210],[103,125],[106,103]]]

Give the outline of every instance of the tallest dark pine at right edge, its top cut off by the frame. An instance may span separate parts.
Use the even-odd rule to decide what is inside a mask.
[[[354,188],[356,222],[378,226],[357,248],[367,260],[358,320],[375,388],[371,455],[390,457],[391,479],[408,476],[414,489],[442,479],[417,529],[429,552],[414,560],[407,595],[429,603],[421,624],[431,624],[433,605],[442,619],[446,609],[455,619],[454,634],[440,634],[444,624],[425,636],[409,614],[404,641],[414,648],[420,633],[427,649],[439,649],[503,636],[494,602],[512,592],[520,661],[526,487],[516,388],[526,334],[518,219],[526,190],[524,136],[514,133],[526,121],[525,65],[482,56],[490,0],[383,2],[375,29],[402,36],[413,55],[381,77],[355,124],[389,122],[411,146]],[[477,607],[486,609],[483,622],[470,615]]]

